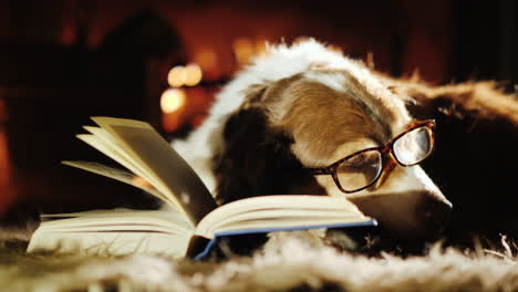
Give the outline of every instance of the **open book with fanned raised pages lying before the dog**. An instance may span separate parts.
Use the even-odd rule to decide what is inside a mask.
[[[44,215],[29,252],[201,258],[221,237],[375,225],[345,198],[329,196],[262,196],[218,206],[190,166],[149,124],[113,117],[92,119],[99,127],[85,126],[90,134],[77,137],[127,170],[89,161],[63,163],[138,187],[168,208]]]

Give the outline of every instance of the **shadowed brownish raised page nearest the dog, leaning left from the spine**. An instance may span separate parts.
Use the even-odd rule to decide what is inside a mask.
[[[216,200],[193,168],[149,124],[111,117],[92,119],[112,134],[121,150],[153,177],[151,182],[155,188],[177,200],[194,225],[217,208]]]

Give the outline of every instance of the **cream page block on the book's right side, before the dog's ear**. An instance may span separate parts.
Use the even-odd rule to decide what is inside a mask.
[[[330,196],[262,196],[224,205],[199,222],[196,234],[370,221],[351,201]]]

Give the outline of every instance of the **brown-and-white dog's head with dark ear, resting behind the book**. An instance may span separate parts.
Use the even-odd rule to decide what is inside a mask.
[[[387,154],[376,182],[352,194],[342,192],[330,175],[308,170],[383,146],[413,122],[403,100],[362,64],[341,55],[338,64],[327,61],[309,58],[294,74],[246,84],[215,156],[219,200],[270,194],[345,196],[396,237],[437,233],[452,205],[419,166],[403,167]]]

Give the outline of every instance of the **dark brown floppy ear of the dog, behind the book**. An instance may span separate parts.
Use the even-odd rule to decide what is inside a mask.
[[[289,194],[292,186],[313,179],[291,153],[291,137],[269,125],[260,102],[266,88],[266,85],[252,86],[224,127],[224,146],[214,157],[217,199],[221,204]]]

